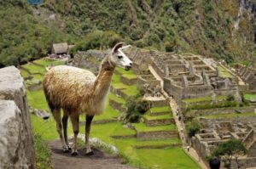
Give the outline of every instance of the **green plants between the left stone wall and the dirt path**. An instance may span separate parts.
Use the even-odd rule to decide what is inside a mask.
[[[36,167],[38,169],[51,169],[50,151],[44,141],[44,138],[35,134],[34,145],[36,151]]]

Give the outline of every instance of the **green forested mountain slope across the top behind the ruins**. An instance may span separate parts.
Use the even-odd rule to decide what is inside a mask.
[[[45,0],[32,8],[25,0],[12,0],[0,3],[0,63],[45,55],[52,42],[87,49],[120,40],[253,63],[255,6],[254,0]],[[55,20],[45,21],[45,11]]]

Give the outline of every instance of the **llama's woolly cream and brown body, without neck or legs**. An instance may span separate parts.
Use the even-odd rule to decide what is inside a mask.
[[[53,67],[43,81],[49,108],[79,110],[81,100],[90,97],[95,80],[96,76],[89,70],[67,65]]]

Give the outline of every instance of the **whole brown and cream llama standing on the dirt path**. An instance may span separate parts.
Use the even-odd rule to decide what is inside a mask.
[[[102,60],[97,76],[89,70],[67,65],[55,66],[45,74],[44,95],[55,118],[63,152],[71,150],[67,141],[67,120],[70,117],[73,125],[72,155],[78,155],[79,115],[84,113],[86,115],[86,155],[93,155],[89,144],[90,124],[94,115],[101,115],[104,110],[115,67],[131,69],[131,60],[122,52],[123,49],[129,47],[130,45],[124,46],[123,42],[117,43],[111,53]],[[63,110],[62,119],[61,109]]]

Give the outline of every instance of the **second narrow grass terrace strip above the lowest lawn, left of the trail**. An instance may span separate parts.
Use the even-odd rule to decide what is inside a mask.
[[[135,124],[135,128],[138,132],[156,132],[156,131],[168,131],[168,130],[177,130],[176,125],[166,125],[158,127],[147,127],[144,123]]]

